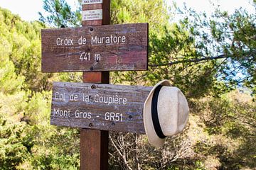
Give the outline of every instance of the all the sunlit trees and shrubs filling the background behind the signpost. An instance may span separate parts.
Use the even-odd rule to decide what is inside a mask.
[[[252,1],[252,6],[256,6]],[[214,6],[213,6],[214,7]],[[44,0],[22,21],[0,8],[0,169],[79,169],[80,132],[50,125],[53,81],[41,72],[41,29],[81,25],[81,8]],[[171,19],[181,13],[181,21]],[[161,148],[145,135],[110,133],[110,169],[256,169],[256,18],[215,6],[212,16],[161,0],[112,0],[111,23],[149,23],[149,71],[112,72],[112,84],[169,79],[188,98],[189,123]]]

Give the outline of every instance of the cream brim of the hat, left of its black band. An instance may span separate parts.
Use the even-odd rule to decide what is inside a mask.
[[[143,121],[144,121],[146,136],[148,137],[149,143],[151,145],[154,145],[155,147],[161,147],[161,145],[164,145],[164,141],[165,141],[165,139],[161,139],[158,135],[156,135],[156,131],[154,130],[154,125],[151,117],[151,101],[152,101],[154,90],[159,85],[171,86],[170,82],[166,79],[163,81],[160,81],[155,86],[153,86],[153,88],[149,93],[149,96],[146,98],[146,101],[144,103],[144,108],[143,108]]]

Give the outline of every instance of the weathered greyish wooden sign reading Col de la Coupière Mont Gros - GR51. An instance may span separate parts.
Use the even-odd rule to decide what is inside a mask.
[[[53,83],[50,124],[144,133],[143,106],[151,87]]]

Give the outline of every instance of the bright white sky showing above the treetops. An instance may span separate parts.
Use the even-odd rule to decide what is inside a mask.
[[[77,0],[66,0],[68,4],[75,8],[77,5]],[[166,0],[168,4],[172,3],[172,0]],[[210,0],[214,4],[220,4],[220,8],[233,13],[235,8],[246,8],[247,11],[255,13],[255,8],[249,4],[247,0]],[[251,0],[252,1],[252,0]],[[188,7],[194,8],[196,11],[212,11],[210,8],[209,0],[176,0],[178,6],[183,6],[186,2]],[[38,12],[43,12],[43,0],[0,0],[1,8],[7,8],[12,13],[16,13],[25,21],[35,21],[38,20]]]

